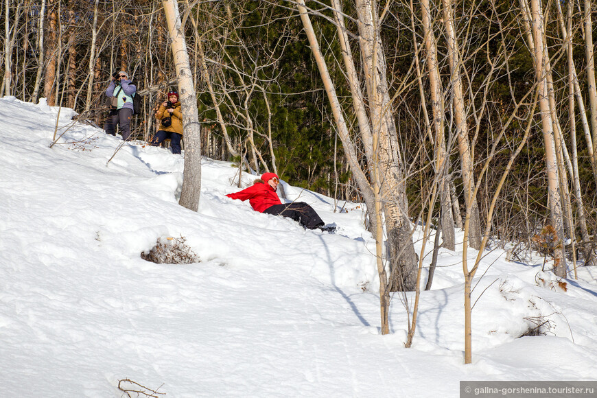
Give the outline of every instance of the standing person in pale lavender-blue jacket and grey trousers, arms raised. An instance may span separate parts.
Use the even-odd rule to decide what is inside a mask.
[[[112,75],[112,82],[106,89],[106,96],[110,97],[110,113],[104,124],[106,134],[116,135],[116,126],[120,126],[120,134],[124,141],[130,139],[130,118],[133,113],[132,97],[137,92],[137,86],[131,83],[128,73],[119,71]]]

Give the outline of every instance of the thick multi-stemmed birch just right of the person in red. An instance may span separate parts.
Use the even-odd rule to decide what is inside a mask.
[[[305,3],[302,0],[296,3],[331,102],[340,140],[345,155],[351,164],[351,170],[355,174],[355,179],[366,198],[368,209],[383,211],[384,214],[386,242],[389,246],[386,259],[390,261],[391,274],[390,278],[384,281],[383,267],[378,265],[380,284],[382,285],[380,299],[382,299],[383,313],[384,294],[390,290],[414,290],[417,276],[417,255],[414,253],[414,246],[412,246],[404,171],[401,165],[400,148],[393,119],[393,105],[386,80],[386,61],[379,30],[377,2],[358,0],[354,4],[361,38],[358,50],[362,60],[364,60],[362,64],[364,80],[360,80],[355,68],[347,30],[343,23],[344,12],[340,8],[340,2],[332,2],[332,12],[342,48],[344,71],[353,98],[353,112],[358,118],[360,139],[367,156],[369,179],[365,176],[356,158],[355,143],[351,139],[347,124],[344,121],[342,115],[344,110],[338,102],[336,90],[331,82],[325,60],[323,60],[320,53]],[[360,91],[361,85],[366,88],[368,112],[364,107],[365,96]],[[377,220],[377,213],[374,216]],[[379,220],[382,219],[379,218]],[[372,226],[373,231],[379,231],[382,227],[377,222],[372,223]],[[377,258],[379,261],[379,255]],[[387,304],[389,305],[389,303]],[[384,316],[382,315],[383,319]]]

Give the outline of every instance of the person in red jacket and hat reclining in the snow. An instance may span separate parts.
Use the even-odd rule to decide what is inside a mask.
[[[318,228],[321,231],[336,231],[335,226],[325,226],[323,220],[309,204],[305,202],[283,204],[276,194],[279,182],[276,174],[266,173],[260,179],[255,180],[250,187],[226,196],[243,201],[248,199],[253,210],[292,218],[307,229]]]

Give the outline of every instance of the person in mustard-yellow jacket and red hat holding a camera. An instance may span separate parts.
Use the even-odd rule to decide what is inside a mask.
[[[173,154],[180,154],[180,140],[183,139],[183,113],[181,112],[178,93],[168,93],[168,100],[163,102],[156,113],[158,131],[150,141],[152,146],[158,146],[165,139],[170,140]]]

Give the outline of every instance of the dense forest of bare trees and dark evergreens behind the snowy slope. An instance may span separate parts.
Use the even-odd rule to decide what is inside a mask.
[[[452,228],[462,228],[478,206],[489,235],[515,242],[514,257],[530,248],[557,257],[561,248],[574,262],[592,259],[597,228],[592,1],[178,5],[204,156],[245,159],[257,174],[277,172],[293,185],[363,201],[299,14],[306,5],[358,163],[372,174],[343,59],[348,44],[356,54],[355,75],[367,75],[360,9],[368,7],[384,57],[380,73],[387,81],[386,110],[391,108],[395,123],[398,178],[410,220],[419,222],[428,211],[432,222],[449,216]],[[143,95],[134,137],[150,139],[156,106],[176,89],[161,2],[4,0],[0,14],[1,95],[34,103],[45,97],[50,106],[73,108],[80,121],[102,126],[104,90],[115,71],[126,70]],[[366,78],[362,82],[371,113],[371,88]],[[470,165],[463,163],[463,140]],[[467,169],[471,185],[464,178]],[[431,199],[435,189],[443,196],[437,202]],[[469,205],[470,197],[476,204]],[[446,225],[442,221],[443,233]]]

